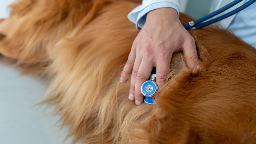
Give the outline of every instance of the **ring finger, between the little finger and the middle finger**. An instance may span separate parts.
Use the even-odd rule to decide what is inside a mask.
[[[134,97],[135,82],[136,82],[138,69],[141,63],[141,59],[142,59],[141,57],[138,57],[138,56],[136,57],[133,65],[133,69],[132,69],[131,85],[130,85],[129,96],[128,96],[128,98],[132,101],[135,100],[135,97]]]

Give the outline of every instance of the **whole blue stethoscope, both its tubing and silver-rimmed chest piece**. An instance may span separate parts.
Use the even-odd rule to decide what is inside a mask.
[[[192,29],[199,29],[199,28],[202,28],[204,26],[207,26],[207,25],[210,25],[212,23],[215,23],[217,21],[220,21],[224,18],[227,18],[245,8],[247,8],[248,6],[250,6],[251,4],[253,4],[256,0],[249,0],[248,2],[246,2],[245,4],[243,4],[242,6],[236,8],[235,10],[232,10],[231,12],[229,13],[226,13],[222,16],[219,16],[217,18],[214,18],[212,20],[209,20],[209,21],[206,21],[206,22],[203,22],[207,19],[210,19],[214,16],[216,16],[217,14],[220,14],[221,12],[231,8],[232,6],[238,4],[239,2],[241,2],[242,0],[234,0],[232,1],[231,3],[227,4],[226,6],[202,17],[202,18],[199,18],[195,21],[190,21],[188,22],[188,24],[184,25],[184,27],[190,31]],[[203,23],[201,23],[203,22]],[[145,103],[148,103],[148,104],[155,104],[155,94],[158,90],[158,86],[157,86],[157,83],[156,83],[156,67],[153,67],[152,69],[152,72],[151,72],[151,75],[150,75],[150,78],[145,81],[142,85],[141,85],[141,88],[140,88],[140,91],[142,93],[142,95],[144,96],[144,102]]]

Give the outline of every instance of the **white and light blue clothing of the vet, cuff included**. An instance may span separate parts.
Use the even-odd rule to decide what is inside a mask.
[[[232,1],[233,0],[214,0],[212,11],[219,9]],[[249,0],[243,0],[215,17],[226,14],[247,1]],[[172,3],[172,5],[168,4],[166,6],[166,3]],[[154,7],[154,5],[156,5],[156,7]],[[137,28],[141,28],[146,21],[146,18],[143,15],[150,10],[161,7],[172,7],[179,13],[179,0],[142,0],[142,5],[133,9],[128,14],[128,19],[135,23]],[[237,14],[214,23],[213,26],[233,32],[237,37],[256,48],[256,2]]]

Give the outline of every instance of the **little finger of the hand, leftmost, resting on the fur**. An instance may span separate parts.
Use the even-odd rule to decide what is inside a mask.
[[[128,75],[132,72],[132,68],[134,65],[134,61],[135,61],[135,57],[136,57],[136,50],[134,48],[131,49],[131,52],[128,56],[128,60],[123,68],[123,71],[121,73],[121,77],[120,77],[120,82],[126,82]]]

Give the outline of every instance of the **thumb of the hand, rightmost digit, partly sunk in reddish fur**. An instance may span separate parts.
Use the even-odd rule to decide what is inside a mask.
[[[187,61],[188,67],[193,70],[199,66],[197,64],[198,56],[196,51],[195,41],[192,38],[190,41],[185,41],[183,44],[183,54]]]

